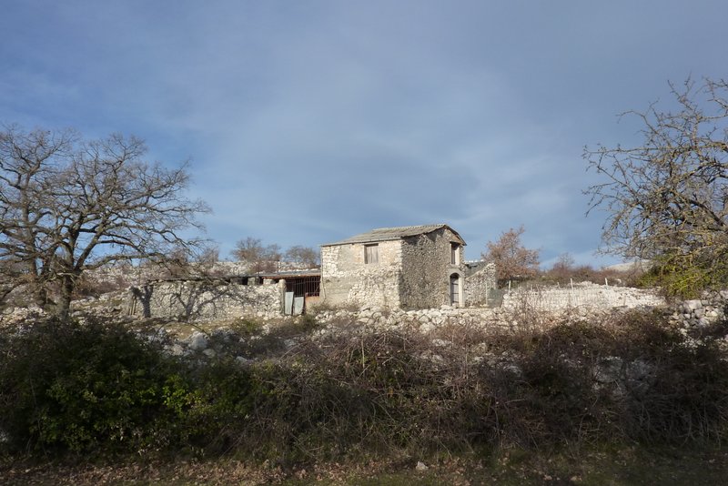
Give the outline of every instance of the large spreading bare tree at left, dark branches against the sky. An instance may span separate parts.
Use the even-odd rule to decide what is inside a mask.
[[[144,160],[144,143],[112,135],[86,141],[74,131],[0,132],[0,271],[13,286],[29,285],[41,305],[59,290],[67,314],[78,278],[123,260],[165,261],[171,248],[201,228],[208,210],[185,196],[187,167]],[[176,252],[178,255],[178,251]]]

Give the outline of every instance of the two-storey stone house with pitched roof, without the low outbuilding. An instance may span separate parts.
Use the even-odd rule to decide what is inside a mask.
[[[465,241],[445,224],[379,228],[321,246],[321,300],[431,309],[465,305]]]

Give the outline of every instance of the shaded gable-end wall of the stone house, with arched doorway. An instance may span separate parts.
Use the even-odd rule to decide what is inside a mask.
[[[401,308],[430,309],[450,304],[450,275],[465,274],[462,246],[450,263],[450,243],[460,238],[446,228],[402,240]]]

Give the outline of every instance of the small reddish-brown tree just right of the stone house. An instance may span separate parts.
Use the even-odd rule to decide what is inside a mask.
[[[498,241],[488,242],[488,250],[482,258],[495,265],[496,279],[500,284],[508,280],[534,277],[539,272],[539,250],[525,248],[521,235],[525,229],[509,229]]]

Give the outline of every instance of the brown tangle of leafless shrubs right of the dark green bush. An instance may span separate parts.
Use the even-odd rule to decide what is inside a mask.
[[[515,331],[339,324],[240,321],[220,339],[245,363],[219,353],[177,368],[185,380],[162,380],[177,429],[155,433],[282,465],[728,437],[724,351],[659,314]]]

